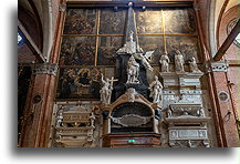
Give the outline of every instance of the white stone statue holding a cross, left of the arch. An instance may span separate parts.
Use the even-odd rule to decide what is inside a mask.
[[[103,88],[100,90],[101,93],[101,102],[103,104],[109,104],[111,103],[111,95],[113,91],[113,84],[111,84],[109,79],[106,79],[106,81],[103,79],[102,74],[102,83]]]

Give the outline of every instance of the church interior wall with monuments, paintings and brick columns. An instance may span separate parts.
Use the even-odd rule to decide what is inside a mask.
[[[238,0],[18,0],[18,147],[238,147]]]

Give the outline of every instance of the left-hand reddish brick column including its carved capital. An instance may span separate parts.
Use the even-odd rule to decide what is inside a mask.
[[[30,116],[23,127],[22,147],[44,147],[48,144],[58,69],[53,63],[40,63],[33,68],[27,109]]]

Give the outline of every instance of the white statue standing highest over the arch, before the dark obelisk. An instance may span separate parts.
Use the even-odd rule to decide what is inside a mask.
[[[139,64],[132,55],[127,62],[127,83],[139,83]]]

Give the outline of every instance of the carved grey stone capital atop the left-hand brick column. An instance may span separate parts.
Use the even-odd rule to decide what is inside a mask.
[[[59,65],[55,63],[41,63],[34,65],[34,74],[51,74],[56,75]]]

